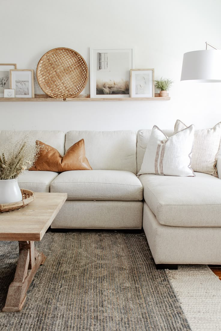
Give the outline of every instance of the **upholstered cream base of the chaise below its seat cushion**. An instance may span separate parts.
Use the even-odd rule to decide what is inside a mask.
[[[144,201],[143,229],[156,264],[221,264],[221,227],[162,225]]]

